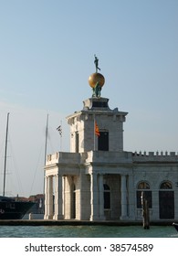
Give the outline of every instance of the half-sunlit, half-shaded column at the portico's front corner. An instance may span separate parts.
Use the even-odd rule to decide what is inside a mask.
[[[99,195],[97,186],[97,174],[90,174],[90,220],[99,219]]]

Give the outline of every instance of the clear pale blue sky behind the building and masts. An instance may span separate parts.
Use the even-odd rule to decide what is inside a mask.
[[[128,112],[125,151],[178,152],[177,0],[0,0],[0,194],[43,193],[47,154],[69,151],[66,116],[101,96]],[[57,127],[62,124],[62,138]]]

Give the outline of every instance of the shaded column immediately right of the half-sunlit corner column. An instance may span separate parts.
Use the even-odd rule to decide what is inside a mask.
[[[99,219],[104,220],[103,175],[99,175]]]

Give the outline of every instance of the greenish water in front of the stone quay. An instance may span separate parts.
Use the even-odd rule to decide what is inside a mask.
[[[0,238],[178,238],[172,226],[1,226]]]

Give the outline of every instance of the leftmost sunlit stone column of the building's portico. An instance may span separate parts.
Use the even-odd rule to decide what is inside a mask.
[[[46,212],[45,219],[53,219],[53,176],[46,177]]]

